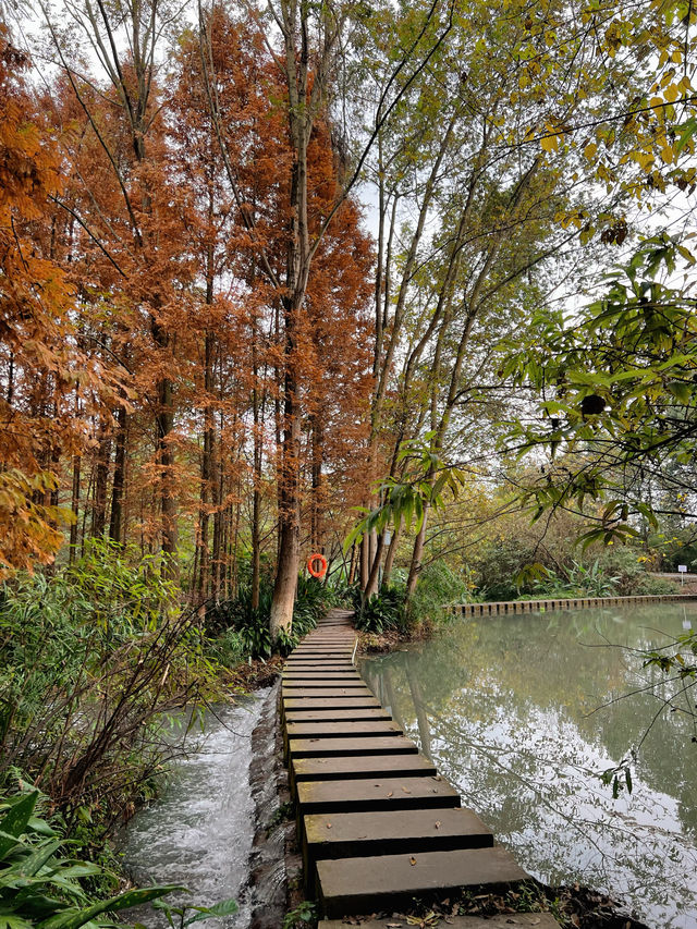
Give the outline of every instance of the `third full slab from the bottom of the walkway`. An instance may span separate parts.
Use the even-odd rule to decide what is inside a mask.
[[[457,791],[436,778],[298,781],[295,790],[301,816],[460,806]]]

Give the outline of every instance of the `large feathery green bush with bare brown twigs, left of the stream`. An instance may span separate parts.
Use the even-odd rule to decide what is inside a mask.
[[[74,567],[1,590],[0,771],[25,771],[71,822],[149,791],[169,751],[160,714],[221,693],[196,616],[127,554],[95,543]]]

